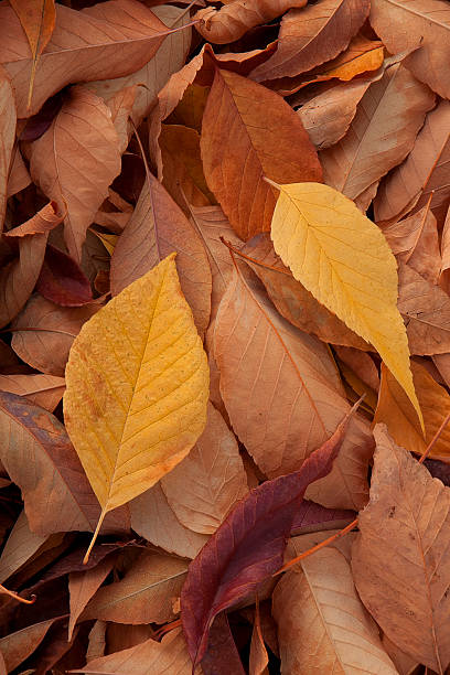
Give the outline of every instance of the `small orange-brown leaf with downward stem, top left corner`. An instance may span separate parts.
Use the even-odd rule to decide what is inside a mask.
[[[28,107],[30,107],[38,62],[55,28],[55,2],[54,0],[31,0],[31,2],[30,0],[12,0],[10,4],[26,33],[33,57],[28,95]]]

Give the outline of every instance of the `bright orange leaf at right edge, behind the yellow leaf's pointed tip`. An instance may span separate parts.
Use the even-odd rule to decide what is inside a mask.
[[[374,424],[384,422],[398,446],[424,454],[448,413],[450,396],[418,363],[411,362],[414,384],[424,413],[425,438],[409,399],[389,371],[382,366],[382,386]],[[449,460],[450,430],[443,429],[430,450],[430,457]]]

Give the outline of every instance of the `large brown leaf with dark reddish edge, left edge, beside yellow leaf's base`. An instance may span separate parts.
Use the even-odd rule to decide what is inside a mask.
[[[93,531],[99,505],[63,425],[25,398],[0,392],[0,459],[41,536]]]

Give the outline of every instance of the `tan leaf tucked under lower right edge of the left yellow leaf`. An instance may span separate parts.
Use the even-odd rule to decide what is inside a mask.
[[[180,523],[201,534],[213,534],[235,502],[247,494],[236,439],[212,404],[202,436],[188,457],[161,479],[161,486]]]

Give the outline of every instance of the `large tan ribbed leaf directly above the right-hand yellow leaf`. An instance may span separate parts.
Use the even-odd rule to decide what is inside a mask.
[[[400,63],[388,68],[364,94],[344,138],[321,152],[325,182],[358,197],[405,159],[433,105],[432,92]]]

